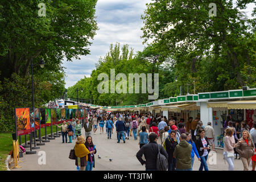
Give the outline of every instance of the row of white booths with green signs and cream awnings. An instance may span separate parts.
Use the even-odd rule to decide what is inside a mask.
[[[100,106],[100,109],[108,112],[152,113],[166,116],[167,119],[174,116],[177,121],[184,118],[185,122],[189,117],[193,117],[193,119],[199,117],[204,126],[207,126],[208,122],[212,123],[215,132],[215,145],[223,148],[223,126],[228,114],[232,115],[233,121],[246,120],[250,127],[253,126],[253,121],[256,121],[256,88],[188,94],[142,105]]]

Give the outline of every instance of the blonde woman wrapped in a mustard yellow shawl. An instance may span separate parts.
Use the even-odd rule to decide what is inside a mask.
[[[85,147],[85,138],[84,136],[77,137],[76,144],[75,144],[75,155],[76,155],[76,166],[80,166],[80,171],[85,171],[85,167],[87,165],[88,154],[92,154],[89,150]]]

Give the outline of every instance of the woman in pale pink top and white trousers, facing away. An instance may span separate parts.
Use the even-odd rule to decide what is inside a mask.
[[[229,164],[229,171],[234,171],[234,148],[236,147],[236,142],[234,139],[234,128],[228,127],[225,132],[224,138],[224,159]]]

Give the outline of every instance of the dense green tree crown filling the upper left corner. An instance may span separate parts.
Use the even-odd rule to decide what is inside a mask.
[[[89,53],[89,39],[97,30],[97,0],[46,1],[45,17],[38,15],[41,2],[1,1],[0,80],[12,73],[28,76],[31,59],[43,58],[46,69],[58,71],[64,57],[71,61]]]

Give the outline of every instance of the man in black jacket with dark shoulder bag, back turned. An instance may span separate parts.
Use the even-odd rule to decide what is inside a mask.
[[[146,164],[146,171],[156,171],[156,159],[158,158],[158,146],[160,146],[156,141],[158,140],[158,135],[155,133],[151,133],[149,135],[150,143],[145,144],[141,149],[137,152],[137,159],[141,164]],[[163,146],[160,146],[160,153],[166,156],[168,159],[168,154],[166,150],[164,150]],[[144,154],[145,160],[142,159],[142,155]]]

